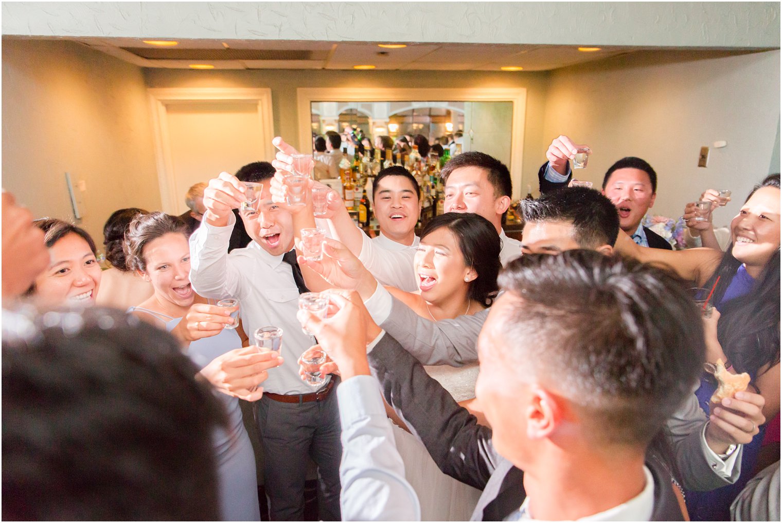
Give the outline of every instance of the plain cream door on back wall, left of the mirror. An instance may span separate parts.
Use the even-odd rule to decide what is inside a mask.
[[[264,158],[264,139],[256,103],[195,102],[166,106],[168,141],[173,168],[174,201],[187,210],[185,193],[198,182],[209,182],[221,171],[235,174],[242,165]],[[177,199],[178,198],[178,199]]]

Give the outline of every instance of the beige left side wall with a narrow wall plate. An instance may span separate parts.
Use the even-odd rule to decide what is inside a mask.
[[[142,71],[70,41],[2,42],[2,185],[36,216],[73,221],[65,172],[84,181],[78,225],[99,245],[123,207],[160,207]]]

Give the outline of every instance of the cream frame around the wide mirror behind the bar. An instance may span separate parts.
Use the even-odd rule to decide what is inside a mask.
[[[312,136],[312,102],[511,102],[511,179],[514,198],[521,194],[524,158],[526,88],[297,88],[299,146],[309,146]]]

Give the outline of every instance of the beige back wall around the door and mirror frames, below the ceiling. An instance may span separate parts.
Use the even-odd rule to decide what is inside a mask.
[[[518,180],[521,175],[522,179],[536,180],[538,160],[544,157],[548,145],[543,142],[542,127],[547,72],[146,69],[145,76],[149,87],[271,88],[274,132],[296,146],[296,88],[526,88],[524,158],[521,172],[516,167],[511,173],[513,179]]]

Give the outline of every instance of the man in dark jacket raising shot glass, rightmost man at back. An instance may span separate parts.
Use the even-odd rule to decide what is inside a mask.
[[[569,137],[555,138],[546,151],[548,161],[540,167],[540,193],[561,189],[572,179],[569,159],[581,147]],[[671,244],[648,227],[641,225],[647,211],[657,198],[657,173],[651,165],[638,157],[624,157],[616,161],[603,177],[602,193],[607,196],[619,212],[622,230],[642,247],[671,250]]]

